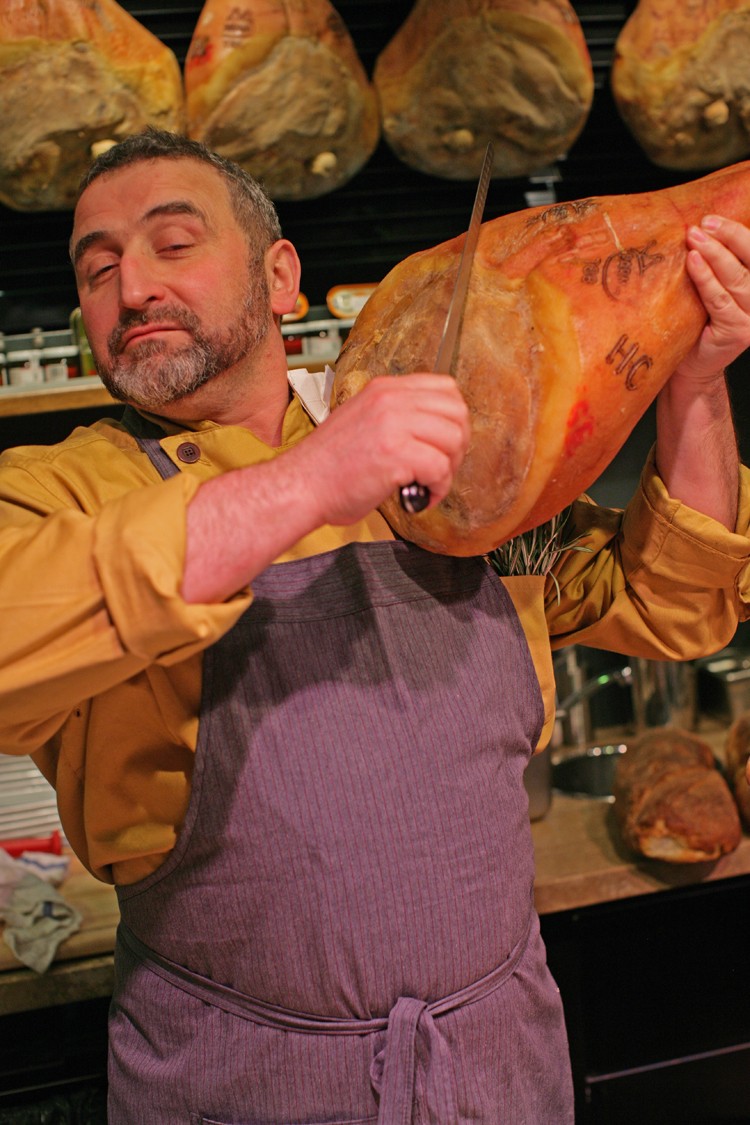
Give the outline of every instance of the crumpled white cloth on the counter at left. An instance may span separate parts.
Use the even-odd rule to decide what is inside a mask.
[[[53,885],[66,871],[64,857],[26,852],[13,860],[0,847],[2,937],[13,956],[37,973],[46,972],[61,942],[81,928],[81,914]]]

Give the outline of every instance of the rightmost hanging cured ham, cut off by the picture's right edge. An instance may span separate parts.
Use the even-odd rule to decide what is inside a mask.
[[[612,91],[649,159],[723,168],[750,153],[750,2],[640,0],[615,45]]]

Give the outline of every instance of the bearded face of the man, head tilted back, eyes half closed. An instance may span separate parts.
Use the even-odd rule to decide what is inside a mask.
[[[208,165],[156,160],[106,173],[73,226],[79,299],[102,381],[160,413],[257,349],[271,323],[228,191]]]

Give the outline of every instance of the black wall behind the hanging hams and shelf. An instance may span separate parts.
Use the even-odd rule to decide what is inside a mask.
[[[172,48],[180,64],[184,62],[200,2],[123,0],[123,6]],[[378,53],[400,27],[412,0],[337,0],[335,7],[371,74]],[[634,0],[573,0],[573,7],[588,43],[596,89],[581,136],[551,166],[555,198],[652,191],[696,178],[699,173],[686,176],[651,164],[614,106],[609,91],[614,43]],[[486,218],[523,209],[528,205],[528,194],[545,187],[543,176],[539,181],[493,180]],[[475,183],[413,171],[381,142],[365,168],[345,187],[320,199],[279,204],[284,234],[300,252],[302,289],[310,304],[324,304],[334,285],[377,282],[414,251],[466,230],[473,195]],[[67,323],[78,304],[66,249],[71,218],[71,213],[19,213],[0,205],[0,330],[13,333],[37,324],[53,328]],[[732,372],[732,394],[741,422],[750,417],[746,382],[743,369]],[[69,420],[46,415],[0,423],[0,447],[55,440],[69,429]],[[595,486],[598,500],[612,504],[627,500],[652,436],[653,418],[649,413]],[[750,449],[746,459],[748,456]]]

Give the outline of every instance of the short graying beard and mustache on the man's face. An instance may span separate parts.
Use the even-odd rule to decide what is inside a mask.
[[[198,317],[177,305],[162,305],[155,313],[124,314],[107,341],[106,359],[94,357],[109,394],[159,413],[252,354],[272,324],[265,278],[254,289],[247,292],[237,323],[225,332],[204,332]],[[191,342],[174,350],[163,340],[144,340],[132,345],[128,354],[120,352],[120,340],[128,328],[163,320],[189,331]]]

